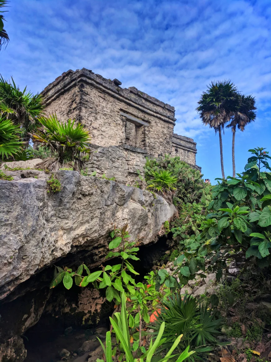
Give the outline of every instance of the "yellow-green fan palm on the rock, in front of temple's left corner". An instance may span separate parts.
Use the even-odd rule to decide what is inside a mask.
[[[40,167],[57,171],[64,164],[72,165],[75,171],[83,167],[82,156],[89,153],[90,135],[81,123],[68,120],[60,122],[56,115],[39,119],[40,127],[31,134],[33,140],[42,144],[44,148],[51,151],[51,157],[45,159]]]

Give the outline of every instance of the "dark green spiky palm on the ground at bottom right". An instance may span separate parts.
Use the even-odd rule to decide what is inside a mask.
[[[163,337],[165,345],[169,348],[176,338],[176,334],[182,333],[182,339],[177,348],[183,349],[190,345],[195,353],[190,356],[192,361],[198,361],[206,356],[218,344],[216,336],[224,321],[215,319],[211,309],[207,310],[196,298],[191,295],[181,296],[180,292],[172,294],[163,302],[163,308],[152,328],[155,333],[160,325],[165,323]]]

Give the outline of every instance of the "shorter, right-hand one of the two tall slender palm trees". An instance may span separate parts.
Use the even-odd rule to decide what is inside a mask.
[[[255,97],[238,94],[239,107],[234,113],[227,128],[232,129],[232,177],[235,177],[235,132],[236,127],[244,131],[245,126],[255,121],[257,109],[255,107]]]

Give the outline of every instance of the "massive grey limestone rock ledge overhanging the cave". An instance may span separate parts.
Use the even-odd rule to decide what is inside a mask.
[[[75,171],[56,172],[61,191],[48,193],[49,176],[31,171],[0,180],[0,299],[68,253],[86,250],[100,265],[114,225],[128,223],[132,239],[150,243],[176,212],[148,191]]]

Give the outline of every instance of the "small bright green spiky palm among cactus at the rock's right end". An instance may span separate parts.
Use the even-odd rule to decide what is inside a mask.
[[[172,202],[172,197],[176,193],[177,177],[171,172],[160,169],[158,171],[150,171],[152,179],[147,181],[147,189],[154,190],[163,196],[167,201]]]

